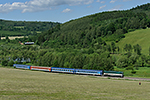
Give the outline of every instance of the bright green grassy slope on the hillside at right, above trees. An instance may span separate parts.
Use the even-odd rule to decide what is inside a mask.
[[[142,53],[148,55],[150,47],[150,29],[141,29],[134,32],[125,34],[125,38],[122,39],[117,45],[123,48],[125,44],[136,45],[139,44],[142,47]]]

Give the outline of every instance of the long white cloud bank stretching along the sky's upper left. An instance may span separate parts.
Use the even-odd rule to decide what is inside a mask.
[[[36,12],[43,10],[51,10],[53,7],[60,5],[88,5],[92,2],[94,2],[94,0],[31,0],[28,2],[14,2],[12,4],[0,4],[0,13],[7,13],[13,10],[22,10],[22,13]]]

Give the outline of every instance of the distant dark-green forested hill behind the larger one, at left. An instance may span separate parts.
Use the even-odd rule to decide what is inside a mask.
[[[0,33],[2,36],[27,36],[36,35],[47,31],[57,24],[55,22],[36,22],[36,21],[9,21],[0,19]]]

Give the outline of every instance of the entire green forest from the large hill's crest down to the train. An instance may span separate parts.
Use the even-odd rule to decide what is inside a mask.
[[[30,63],[97,70],[114,70],[117,66],[134,71],[150,67],[150,49],[149,54],[144,55],[139,44],[124,44],[120,48],[116,43],[129,32],[149,27],[150,4],[125,11],[97,13],[57,24],[28,38],[1,40],[0,60],[4,66]],[[35,45],[20,45],[19,41],[33,41]]]

